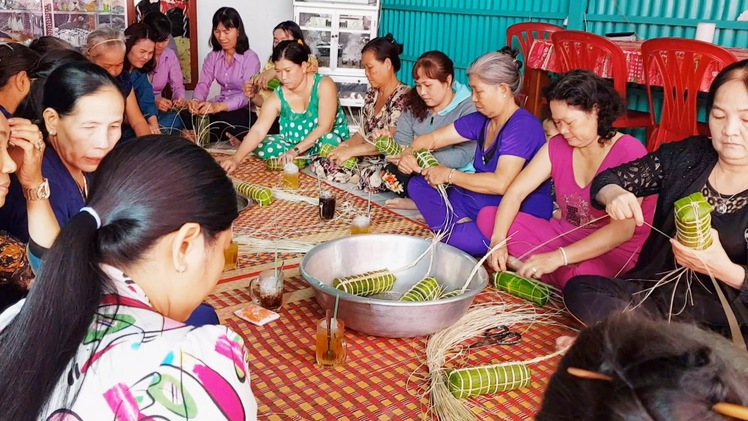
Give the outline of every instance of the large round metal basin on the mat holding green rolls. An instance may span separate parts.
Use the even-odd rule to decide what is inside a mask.
[[[304,256],[300,270],[323,309],[332,309],[335,296],[340,295],[338,317],[351,329],[388,338],[430,335],[451,326],[465,314],[476,294],[488,284],[486,270],[481,267],[465,294],[457,297],[416,303],[396,300],[427,275],[435,275],[447,291],[462,288],[477,262],[457,248],[438,244],[430,273],[426,273],[427,256],[414,267],[395,273],[393,292],[381,294],[384,297],[359,297],[332,287],[333,279],[338,277],[403,268],[414,262],[429,244],[428,240],[407,235],[354,235],[314,247]],[[394,299],[387,299],[388,295]]]

